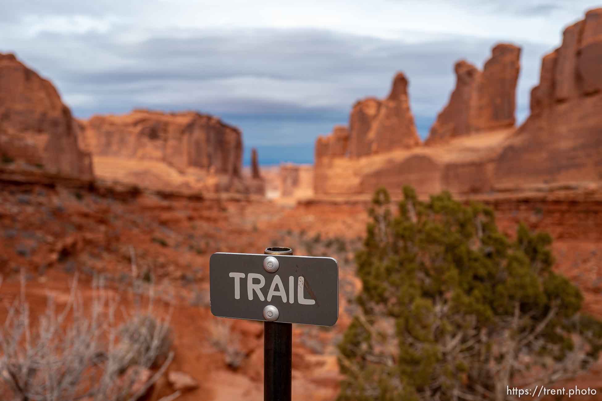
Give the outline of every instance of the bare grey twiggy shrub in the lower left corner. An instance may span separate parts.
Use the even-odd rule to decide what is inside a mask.
[[[25,297],[22,274],[20,295],[12,302],[4,299],[7,317],[0,327],[0,398],[140,398],[173,359],[171,308],[164,317],[155,313],[152,291],[149,287],[149,296],[140,291],[126,292],[133,294],[135,301],[134,307],[128,309],[120,307],[120,297],[96,277],[91,299],[84,302],[75,277],[64,306],[58,308],[55,298],[49,295],[46,310],[36,321]],[[122,316],[118,318],[119,312]],[[124,375],[128,367],[134,373]],[[149,377],[141,376],[141,372]]]

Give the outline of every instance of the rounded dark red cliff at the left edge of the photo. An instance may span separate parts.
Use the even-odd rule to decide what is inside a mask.
[[[79,127],[54,85],[13,54],[0,54],[0,156],[4,165],[91,180]]]

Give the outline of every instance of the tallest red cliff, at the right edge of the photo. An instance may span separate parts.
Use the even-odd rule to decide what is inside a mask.
[[[498,186],[602,180],[602,8],[544,57],[531,115],[501,154]]]

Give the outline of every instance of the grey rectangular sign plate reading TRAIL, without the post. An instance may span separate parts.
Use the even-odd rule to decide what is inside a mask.
[[[332,326],[338,319],[337,260],[214,253],[209,296],[218,317]]]

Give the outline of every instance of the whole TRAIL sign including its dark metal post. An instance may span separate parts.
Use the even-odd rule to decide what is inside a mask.
[[[214,316],[264,321],[264,401],[290,401],[292,323],[337,322],[337,260],[293,256],[284,247],[264,254],[214,253],[209,293]]]

